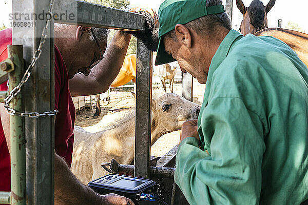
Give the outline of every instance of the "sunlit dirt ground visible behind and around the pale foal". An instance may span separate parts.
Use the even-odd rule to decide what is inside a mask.
[[[168,86],[167,92],[170,92]],[[194,79],[194,103],[199,105],[202,104],[203,94],[204,94],[205,85],[198,83]],[[181,84],[174,84],[174,93],[181,95]],[[153,98],[155,96],[160,96],[164,94],[162,85],[153,86]],[[126,110],[128,108],[134,107],[136,100],[132,96],[131,92],[118,92],[110,93],[110,100],[105,101],[101,100],[101,115],[98,118],[93,118],[95,113],[95,108],[89,109],[86,107],[81,111],[77,112],[75,125],[78,125],[84,128],[88,132],[98,132],[102,130],[112,119],[116,118],[120,111]],[[171,132],[160,137],[155,144],[151,147],[152,156],[163,156],[173,147],[175,147],[180,140],[180,131]]]

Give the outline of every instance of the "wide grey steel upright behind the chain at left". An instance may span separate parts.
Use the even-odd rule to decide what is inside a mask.
[[[50,1],[13,0],[13,13],[36,14],[48,11]],[[44,14],[43,14],[44,16]],[[23,22],[25,19],[14,19]],[[38,48],[46,17],[27,20],[32,27],[14,26],[13,45],[23,45],[26,65],[29,65]],[[41,57],[25,84],[25,110],[45,112],[54,110],[54,67],[53,67],[53,22],[48,25],[48,35],[42,47]],[[53,204],[53,157],[54,117],[26,118],[26,173],[27,203],[31,205]]]

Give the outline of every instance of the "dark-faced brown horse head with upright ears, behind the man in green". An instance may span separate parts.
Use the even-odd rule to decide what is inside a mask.
[[[243,35],[256,33],[261,29],[267,28],[266,14],[275,4],[275,0],[270,0],[266,6],[260,0],[252,1],[247,8],[242,0],[236,0],[236,5],[244,18],[242,20],[240,31]]]

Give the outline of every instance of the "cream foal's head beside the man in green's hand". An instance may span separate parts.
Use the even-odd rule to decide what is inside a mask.
[[[152,100],[152,138],[180,130],[184,121],[197,119],[200,106],[175,93]]]

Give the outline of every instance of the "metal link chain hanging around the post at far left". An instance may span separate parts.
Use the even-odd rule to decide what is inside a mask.
[[[50,16],[53,15],[52,10],[53,10],[53,4],[54,4],[54,0],[50,0],[50,5],[49,5],[49,10],[48,13],[50,14]],[[32,57],[32,61],[30,63],[30,65],[28,66],[22,80],[20,81],[20,83],[13,88],[13,90],[10,92],[10,94],[4,99],[4,107],[7,111],[8,114],[10,115],[17,115],[17,116],[21,116],[21,117],[31,117],[31,118],[38,118],[38,117],[46,117],[46,116],[53,116],[56,115],[56,113],[58,112],[57,110],[53,110],[53,111],[47,111],[44,113],[38,113],[38,112],[19,112],[16,111],[12,108],[9,107],[9,103],[10,101],[18,94],[21,92],[21,88],[24,86],[24,84],[26,83],[26,81],[29,79],[31,72],[36,64],[36,61],[38,58],[40,58],[41,53],[42,53],[42,47],[45,44],[45,40],[47,37],[47,32],[49,30],[48,28],[48,24],[50,22],[51,18],[46,19],[46,25],[43,29],[42,32],[42,36],[41,36],[41,40],[40,40],[40,45],[38,45],[38,48],[35,50],[34,55]]]

